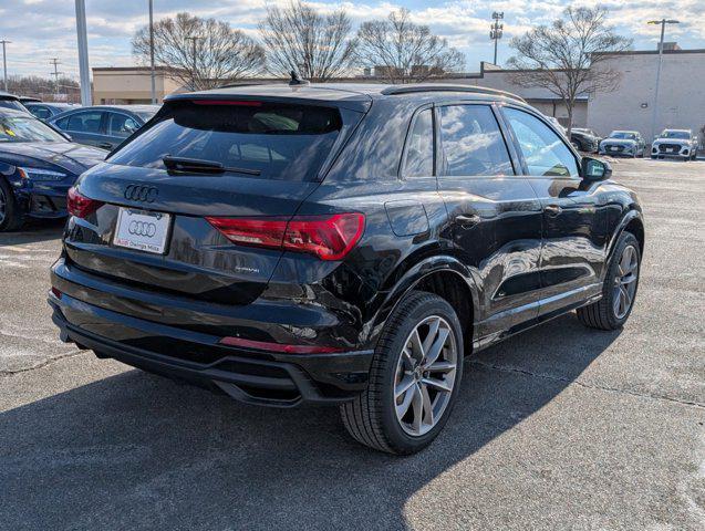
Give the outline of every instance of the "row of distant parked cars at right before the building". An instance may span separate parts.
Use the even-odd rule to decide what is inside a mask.
[[[560,126],[558,121],[554,124]],[[576,149],[584,153],[633,158],[646,156],[649,149],[639,131],[613,131],[602,138],[592,129],[573,127],[570,132],[570,143]],[[651,158],[695,160],[697,144],[697,136],[692,129],[664,129],[651,144]]]

